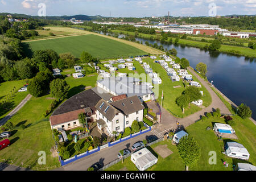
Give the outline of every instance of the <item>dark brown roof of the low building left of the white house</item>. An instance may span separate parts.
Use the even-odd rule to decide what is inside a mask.
[[[101,97],[93,92],[92,89],[85,90],[84,92],[76,94],[75,96],[65,101],[55,111],[53,111],[52,116],[85,109],[86,107],[90,107],[93,111],[95,111],[96,109],[94,106],[100,100]]]

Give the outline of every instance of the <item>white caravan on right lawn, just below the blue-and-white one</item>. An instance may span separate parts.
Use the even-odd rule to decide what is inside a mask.
[[[226,142],[224,150],[225,154],[228,155],[230,158],[248,160],[250,157],[247,149],[243,147],[242,144],[237,142]]]

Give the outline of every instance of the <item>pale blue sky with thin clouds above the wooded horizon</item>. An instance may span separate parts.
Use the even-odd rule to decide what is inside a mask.
[[[40,11],[44,6],[46,11]],[[41,4],[42,5],[42,4]],[[215,8],[216,7],[216,8]],[[39,11],[41,13],[39,13]],[[112,17],[256,14],[256,0],[0,0],[0,13]]]

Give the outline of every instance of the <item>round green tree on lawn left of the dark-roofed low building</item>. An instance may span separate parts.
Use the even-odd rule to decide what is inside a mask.
[[[68,90],[70,86],[65,80],[57,78],[50,83],[51,94],[53,97],[60,100],[64,100],[68,96]]]

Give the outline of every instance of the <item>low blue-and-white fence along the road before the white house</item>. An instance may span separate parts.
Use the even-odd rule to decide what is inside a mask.
[[[146,123],[144,123],[144,126],[148,127],[148,126],[146,125]],[[109,143],[108,143],[108,147],[112,147],[112,146],[114,146],[115,144],[124,142],[124,141],[129,140],[129,139],[134,138],[134,137],[137,137],[137,136],[139,136],[139,135],[142,135],[142,134],[144,134],[144,133],[147,133],[148,131],[151,131],[151,127],[148,127],[146,130],[139,131],[138,133],[131,134],[131,135],[125,137],[125,138],[120,138],[119,140],[116,140],[115,142],[111,142],[111,143],[109,142]],[[93,150],[86,151],[86,152],[84,152],[83,154],[80,154],[80,155],[75,155],[75,156],[73,156],[72,158],[69,158],[69,159],[67,159],[67,160],[62,160],[61,157],[60,157],[60,155],[59,155],[60,164],[61,164],[61,166],[67,165],[67,164],[69,164],[69,163],[75,162],[76,160],[82,159],[82,158],[84,158],[84,157],[86,157],[86,156],[88,156],[88,155],[94,154],[94,153],[96,153],[96,152],[98,152],[98,151],[100,151],[100,150],[101,150],[100,147],[94,148]]]

